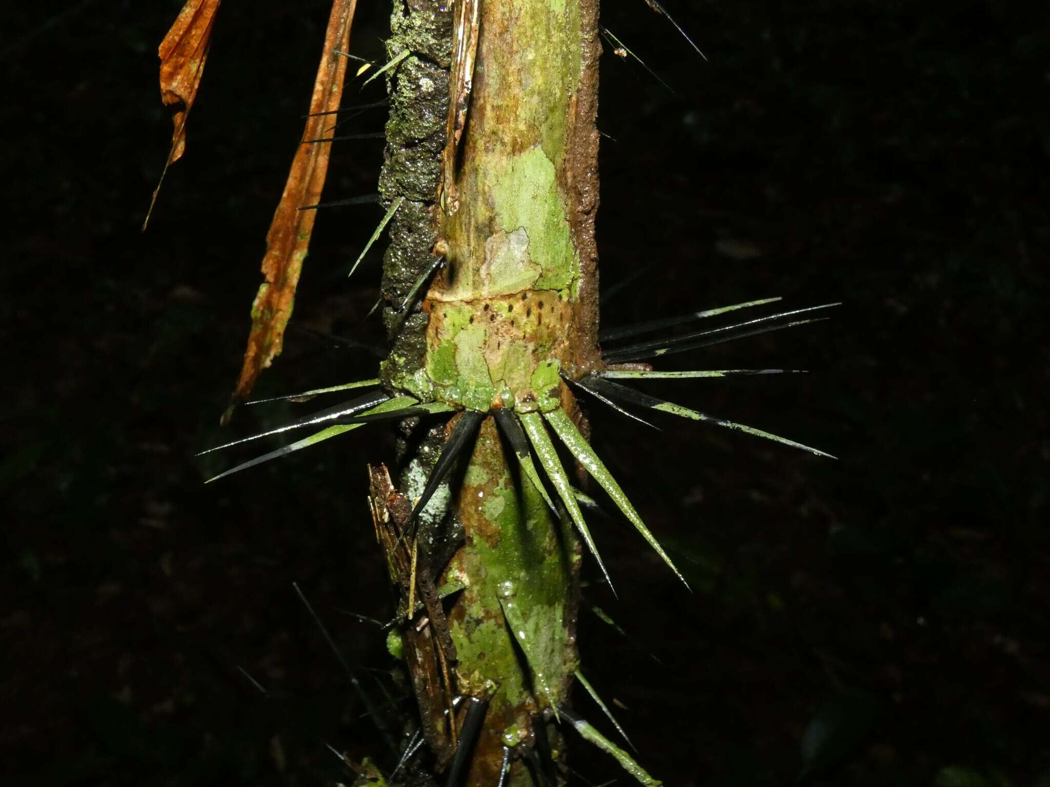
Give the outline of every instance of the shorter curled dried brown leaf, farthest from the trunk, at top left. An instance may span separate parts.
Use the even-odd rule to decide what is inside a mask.
[[[211,33],[215,26],[215,12],[220,2],[222,0],[188,0],[158,49],[156,54],[161,58],[161,101],[164,106],[173,109],[172,122],[175,128],[171,134],[171,150],[164,163],[160,183],[153,189],[149,211],[142,225],[143,230],[149,222],[149,215],[153,212],[156,194],[168,167],[182,158],[186,151],[186,119],[201,87],[204,64],[211,46]]]

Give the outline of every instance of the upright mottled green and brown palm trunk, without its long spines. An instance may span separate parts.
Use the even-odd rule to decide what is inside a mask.
[[[416,0],[397,2],[393,15],[388,55],[412,54],[387,80],[380,191],[404,201],[384,263],[393,352],[382,378],[391,389],[423,400],[437,393],[476,412],[539,418],[561,406],[583,427],[559,373],[579,376],[600,363],[596,2],[483,2],[476,27],[472,10]],[[464,95],[471,29],[472,89]],[[457,107],[467,108],[465,126]],[[438,256],[444,265],[425,297],[400,314]],[[379,519],[420,495],[455,423],[405,435],[400,495],[373,471]],[[537,749],[555,761],[564,753],[552,721],[578,666],[580,545],[564,508],[554,513],[519,471],[494,414],[461,465],[419,516],[415,553],[417,577],[461,590],[445,601],[444,621],[410,612],[404,653],[439,769],[462,768],[463,784],[491,787],[506,760],[504,784],[531,784],[540,773],[529,768],[544,767]],[[396,540],[386,546],[404,563],[408,552]],[[395,579],[403,573],[392,568]],[[411,579],[399,583],[412,594]],[[445,714],[453,695],[468,699]]]

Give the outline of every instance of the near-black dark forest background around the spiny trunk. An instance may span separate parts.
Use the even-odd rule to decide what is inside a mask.
[[[669,785],[1050,784],[1045,4],[668,4],[710,62],[642,0],[604,9],[675,91],[607,51],[598,244],[603,288],[629,284],[606,324],[844,301],[662,364],[815,374],[654,387],[842,459],[595,411],[695,593],[595,524],[623,599],[587,596],[630,640],[585,614],[584,668]],[[0,12],[6,784],[349,781],[322,742],[390,767],[291,582],[373,693],[396,692],[382,637],[339,612],[390,613],[364,466],[392,442],[362,431],[211,486],[253,454],[193,456],[301,411],[217,425],[327,3],[223,4],[142,235],[170,140],[155,50],[180,6]],[[362,0],[355,52],[381,57],[385,15]],[[357,84],[348,103],[381,94]],[[338,145],[326,195],[372,191],[380,145]],[[319,216],[294,323],[378,339],[379,254],[345,279],[378,218]],[[293,332],[259,392],[373,368]],[[586,744],[573,763],[629,782]]]

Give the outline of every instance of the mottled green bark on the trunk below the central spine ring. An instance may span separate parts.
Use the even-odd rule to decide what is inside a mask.
[[[449,613],[459,689],[490,698],[471,785],[496,784],[504,745],[534,745],[533,725],[568,699],[578,663],[580,550],[512,461],[486,419],[459,492],[466,540],[446,574],[465,586]],[[530,784],[518,760],[509,778]]]

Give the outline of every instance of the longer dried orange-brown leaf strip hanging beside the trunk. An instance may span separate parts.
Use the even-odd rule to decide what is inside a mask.
[[[324,51],[317,67],[317,79],[310,100],[312,116],[307,119],[303,140],[321,137],[326,125],[331,123],[323,113],[331,113],[339,108],[348,59],[336,52],[346,51],[350,47],[350,28],[356,6],[356,0],[335,0],[332,4],[332,15],[324,34]],[[317,217],[317,211],[299,208],[320,200],[328,174],[330,150],[331,145],[327,144],[300,145],[292,159],[285,192],[267,233],[267,250],[262,257],[262,275],[266,281],[259,286],[252,304],[252,331],[248,337],[245,362],[230,406],[223,414],[223,423],[230,420],[233,408],[245,400],[262,369],[280,355],[285,328],[292,316],[295,286],[299,281],[302,260],[307,256],[314,219]]]

